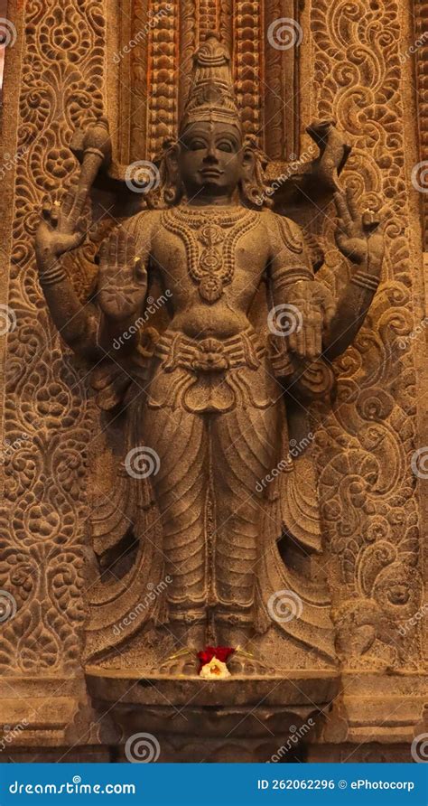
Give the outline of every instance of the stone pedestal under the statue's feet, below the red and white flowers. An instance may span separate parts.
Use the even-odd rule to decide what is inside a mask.
[[[120,732],[119,761],[302,761],[339,689],[328,672],[212,681],[92,668],[87,682],[101,726],[106,714]]]

